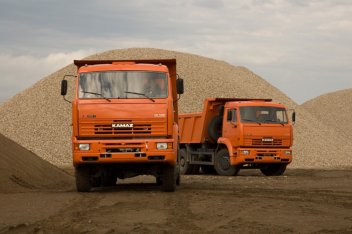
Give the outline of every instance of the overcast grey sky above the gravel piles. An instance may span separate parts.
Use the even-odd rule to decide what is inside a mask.
[[[74,59],[129,47],[249,68],[298,104],[352,88],[351,0],[0,1],[0,103]]]

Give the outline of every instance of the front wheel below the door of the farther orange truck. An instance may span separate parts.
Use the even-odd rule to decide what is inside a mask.
[[[241,167],[231,166],[230,164],[230,155],[227,148],[221,149],[215,155],[215,170],[219,175],[222,176],[235,176],[240,171]]]

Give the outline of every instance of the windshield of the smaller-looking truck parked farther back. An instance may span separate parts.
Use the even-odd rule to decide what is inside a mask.
[[[240,119],[243,123],[288,123],[285,108],[269,106],[240,107]]]

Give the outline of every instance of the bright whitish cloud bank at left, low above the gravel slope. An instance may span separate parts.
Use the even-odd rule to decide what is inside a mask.
[[[0,103],[69,65],[74,59],[94,53],[92,49],[81,49],[71,53],[51,53],[45,57],[0,54]]]

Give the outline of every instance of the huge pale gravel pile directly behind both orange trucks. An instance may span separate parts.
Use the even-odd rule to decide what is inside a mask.
[[[352,157],[341,159],[348,147],[339,145],[326,123],[306,112],[287,95],[243,66],[203,56],[155,48],[127,48],[88,56],[87,60],[172,59],[184,79],[185,93],[179,100],[180,113],[201,112],[205,98],[272,98],[296,110],[294,162],[291,167],[351,166]],[[71,104],[60,94],[63,75],[75,75],[70,64],[43,78],[0,105],[0,133],[52,163],[71,162]],[[75,80],[68,78],[66,98],[73,100]],[[322,106],[323,104],[321,104]],[[332,145],[334,145],[332,147]],[[340,156],[337,160],[336,156]]]

